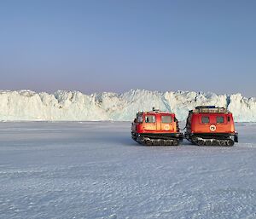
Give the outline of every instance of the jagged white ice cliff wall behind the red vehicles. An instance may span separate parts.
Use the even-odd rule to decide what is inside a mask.
[[[133,90],[124,93],[84,95],[79,91],[57,91],[54,94],[31,90],[0,91],[0,120],[117,120],[131,121],[139,110],[159,107],[175,112],[185,120],[195,106],[227,107],[236,122],[256,122],[256,99],[241,94],[216,95],[202,92],[159,92]]]

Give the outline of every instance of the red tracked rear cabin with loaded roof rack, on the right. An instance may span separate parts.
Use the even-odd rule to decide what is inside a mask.
[[[232,113],[224,107],[195,107],[189,111],[185,138],[199,146],[233,146],[238,134]]]

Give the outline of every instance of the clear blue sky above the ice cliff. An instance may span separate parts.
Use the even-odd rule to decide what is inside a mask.
[[[0,1],[0,89],[256,96],[255,1]]]

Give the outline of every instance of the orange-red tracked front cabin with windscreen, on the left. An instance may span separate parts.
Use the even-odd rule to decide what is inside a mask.
[[[178,122],[172,112],[137,112],[137,117],[131,124],[133,140],[147,146],[177,146],[183,140]]]

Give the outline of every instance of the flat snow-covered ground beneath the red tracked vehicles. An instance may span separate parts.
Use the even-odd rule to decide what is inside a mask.
[[[143,147],[126,122],[0,123],[0,218],[256,218],[256,124],[236,128]]]

